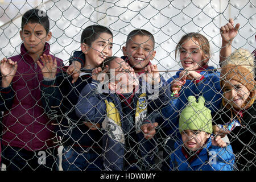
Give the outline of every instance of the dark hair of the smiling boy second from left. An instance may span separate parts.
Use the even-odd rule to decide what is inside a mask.
[[[82,31],[81,43],[91,46],[92,42],[96,40],[102,33],[108,33],[113,36],[112,32],[107,27],[98,24],[88,26],[84,29],[84,31]]]

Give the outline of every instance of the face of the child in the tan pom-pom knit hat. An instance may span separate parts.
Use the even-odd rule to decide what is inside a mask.
[[[241,109],[247,98],[250,96],[249,90],[236,80],[225,82],[223,86],[223,97],[234,109]]]

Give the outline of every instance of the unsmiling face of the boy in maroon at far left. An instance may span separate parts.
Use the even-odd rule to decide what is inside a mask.
[[[20,31],[20,38],[31,57],[39,57],[44,51],[46,41],[51,39],[51,32],[46,33],[46,29],[40,23],[27,23]]]

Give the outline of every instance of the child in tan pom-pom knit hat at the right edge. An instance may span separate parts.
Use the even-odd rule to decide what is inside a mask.
[[[255,171],[254,56],[246,49],[234,51],[222,62],[222,105],[214,115],[214,133],[228,135],[240,171]]]

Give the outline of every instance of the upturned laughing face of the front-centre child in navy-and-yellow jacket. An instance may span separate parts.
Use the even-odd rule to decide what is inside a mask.
[[[134,69],[126,61],[116,58],[110,69],[115,69],[115,90],[121,93],[130,93],[138,85]]]

